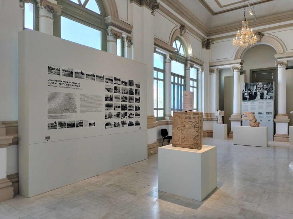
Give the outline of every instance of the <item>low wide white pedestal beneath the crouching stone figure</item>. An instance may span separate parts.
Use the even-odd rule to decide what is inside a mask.
[[[234,126],[234,145],[268,147],[268,127]]]

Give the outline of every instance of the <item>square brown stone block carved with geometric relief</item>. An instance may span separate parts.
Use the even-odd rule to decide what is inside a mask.
[[[173,112],[172,146],[202,149],[202,112]]]

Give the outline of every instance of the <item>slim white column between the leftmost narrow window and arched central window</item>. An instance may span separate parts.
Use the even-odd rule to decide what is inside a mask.
[[[171,61],[174,56],[166,55],[165,59],[165,119],[172,120],[171,115]]]

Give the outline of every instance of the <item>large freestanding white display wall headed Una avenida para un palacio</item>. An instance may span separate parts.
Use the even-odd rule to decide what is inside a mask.
[[[145,64],[37,31],[18,41],[20,194],[147,159]]]

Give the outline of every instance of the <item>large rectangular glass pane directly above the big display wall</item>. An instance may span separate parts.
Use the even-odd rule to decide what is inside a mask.
[[[101,49],[101,32],[61,16],[61,38],[84,46]]]

